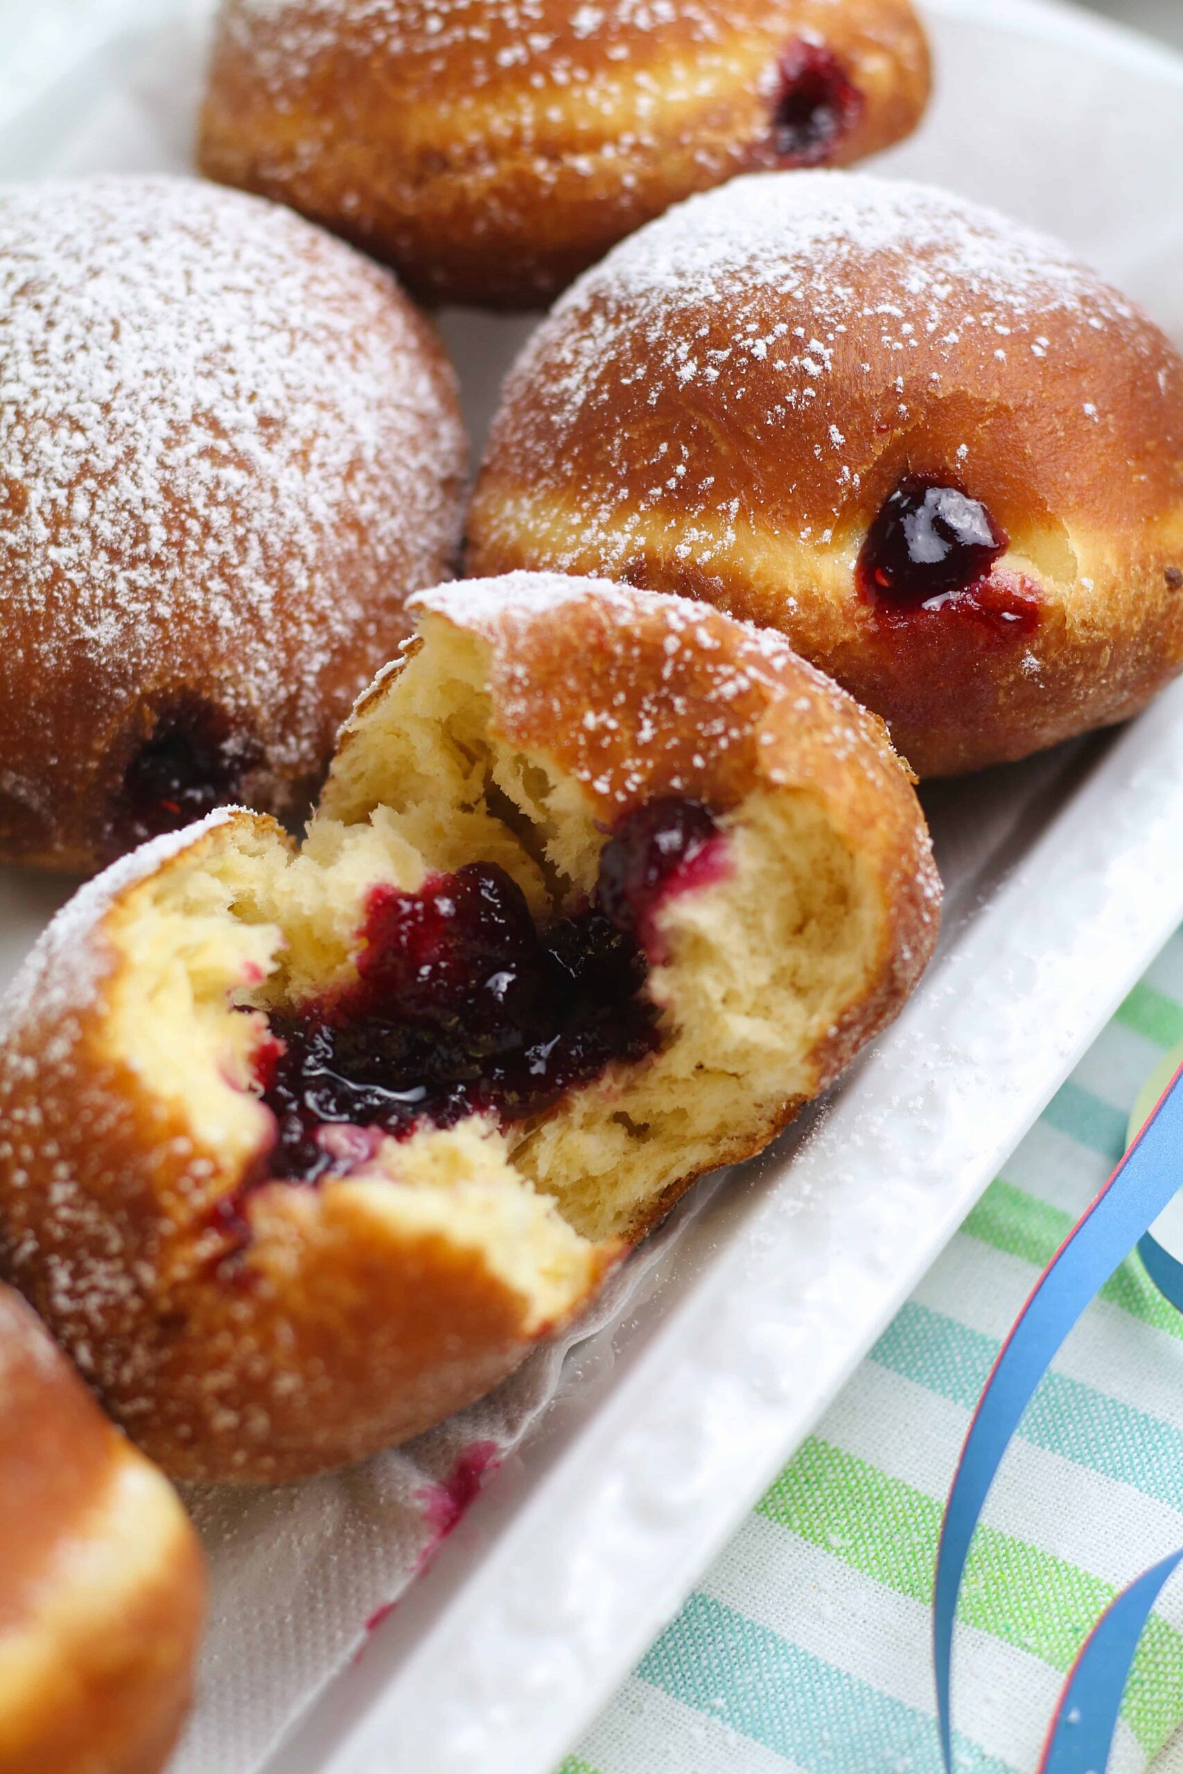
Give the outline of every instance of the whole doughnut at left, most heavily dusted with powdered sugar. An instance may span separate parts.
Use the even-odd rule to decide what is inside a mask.
[[[452,371],[394,279],[257,197],[0,193],[0,857],[303,816],[454,566]]]

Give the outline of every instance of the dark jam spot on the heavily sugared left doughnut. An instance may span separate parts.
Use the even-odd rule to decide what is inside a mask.
[[[140,844],[236,800],[252,763],[257,749],[234,743],[218,710],[195,703],[161,713],[122,779],[119,844]]]

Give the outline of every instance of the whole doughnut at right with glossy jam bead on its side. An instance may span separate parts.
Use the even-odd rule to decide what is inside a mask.
[[[513,371],[470,571],[782,628],[921,775],[1132,715],[1183,662],[1183,362],[1059,247],[862,174],[624,241]]]

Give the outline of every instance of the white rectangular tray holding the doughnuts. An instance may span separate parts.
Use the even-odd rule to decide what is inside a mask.
[[[1038,0],[926,11],[940,98],[890,165],[1068,234],[1183,341],[1183,62]],[[184,167],[193,18],[0,0],[0,176]],[[527,330],[445,319],[474,431]],[[905,1017],[683,1212],[626,1320],[573,1352],[543,1426],[266,1774],[548,1774],[1183,917],[1183,685],[1116,736],[924,798],[947,915]],[[0,873],[0,974],[60,898]]]

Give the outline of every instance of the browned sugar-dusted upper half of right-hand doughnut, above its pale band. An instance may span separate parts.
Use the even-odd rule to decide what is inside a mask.
[[[1032,523],[1126,530],[1179,504],[1181,458],[1178,353],[1062,247],[921,184],[773,172],[580,279],[511,376],[488,461],[502,484],[589,477],[601,564],[647,513],[709,516],[686,543],[709,568],[729,518],[828,543],[903,467],[975,488],[984,470]],[[477,538],[488,522],[479,500]]]

